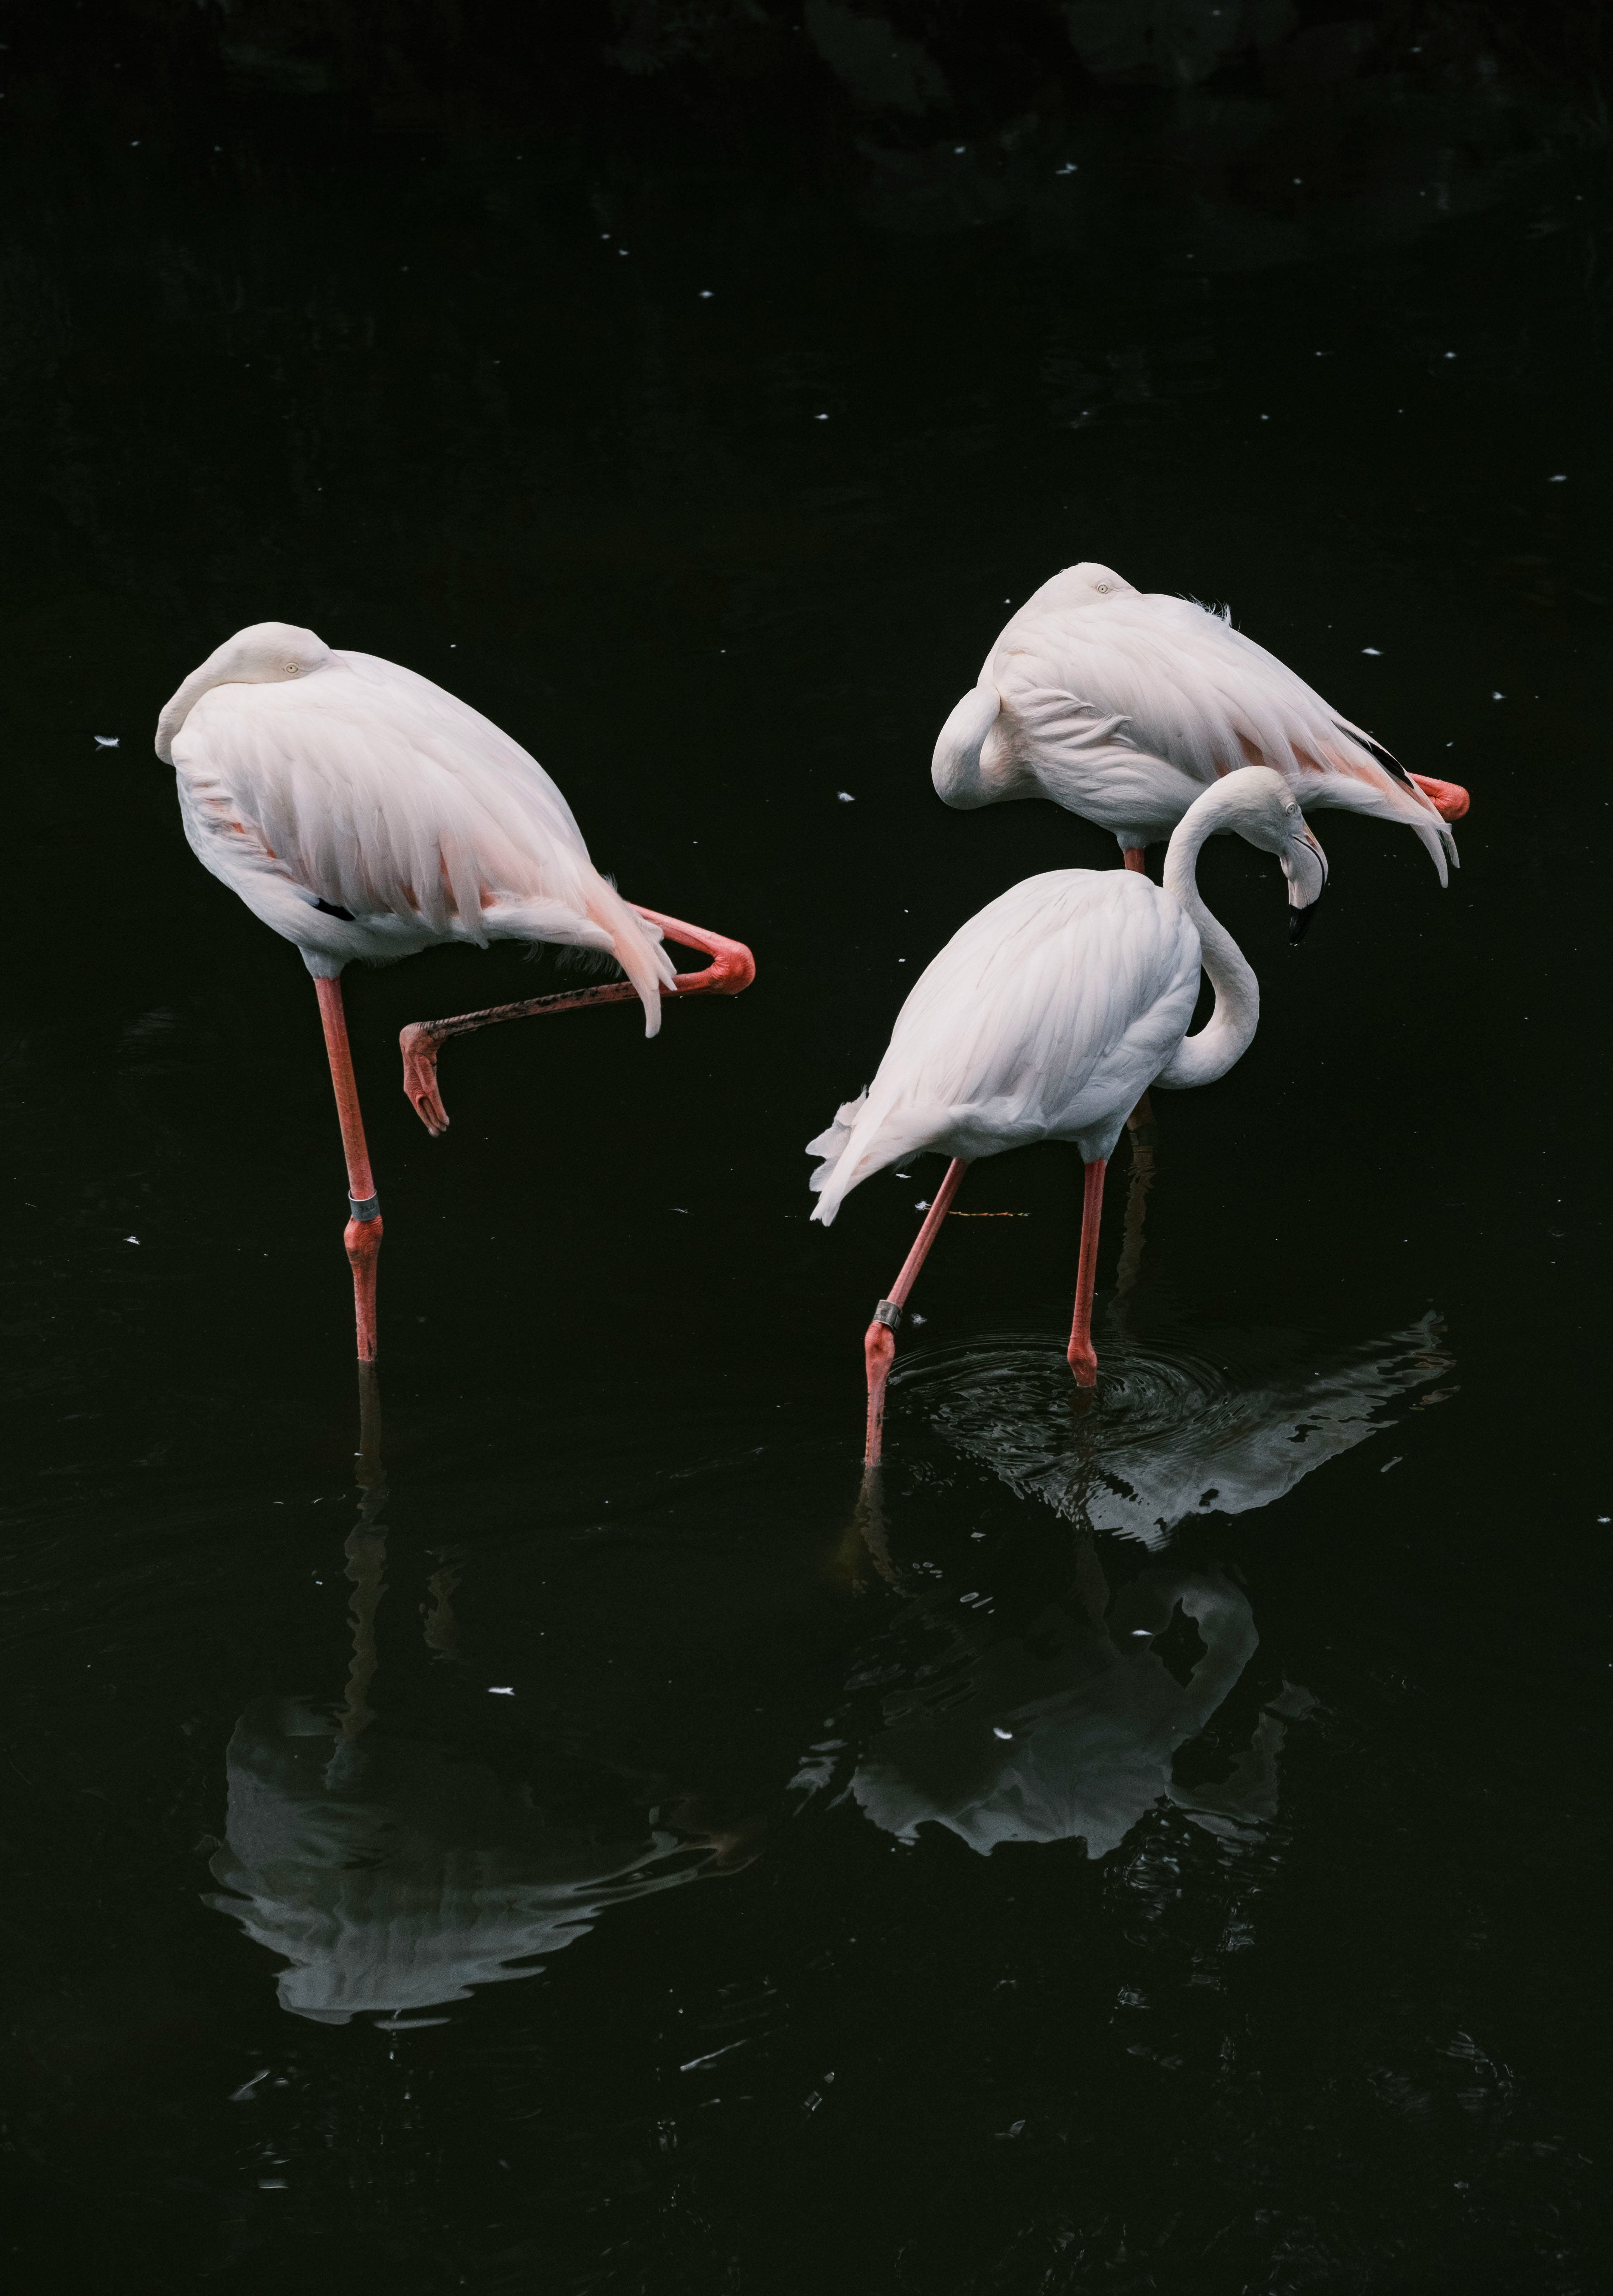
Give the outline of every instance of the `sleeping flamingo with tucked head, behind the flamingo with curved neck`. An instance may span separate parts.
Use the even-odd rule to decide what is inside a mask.
[[[1142,870],[1142,847],[1243,765],[1273,767],[1307,813],[1402,822],[1448,882],[1466,790],[1409,774],[1227,613],[1133,590],[1101,565],[1066,567],[1025,599],[942,726],[931,778],[965,810],[1050,797],[1112,829]],[[1310,907],[1294,884],[1289,905],[1298,939]]]

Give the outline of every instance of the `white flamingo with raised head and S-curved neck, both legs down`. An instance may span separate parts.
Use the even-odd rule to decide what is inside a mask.
[[[1204,838],[1229,829],[1278,854],[1301,907],[1321,895],[1328,866],[1289,783],[1264,765],[1238,767],[1183,813],[1163,886],[1133,870],[1048,870],[972,916],[914,980],[873,1084],[809,1141],[806,1153],[823,1157],[811,1176],[811,1217],[825,1228],[869,1173],[926,1148],[951,1157],[864,1334],[869,1467],[880,1463],[903,1304],[974,1157],[1048,1139],[1080,1148],[1085,1192],[1066,1355],[1075,1384],[1096,1384],[1091,1288],[1103,1171],[1121,1125],[1151,1084],[1225,1077],[1259,1022],[1255,974],[1195,879]],[[1199,967],[1215,1010],[1188,1035]]]

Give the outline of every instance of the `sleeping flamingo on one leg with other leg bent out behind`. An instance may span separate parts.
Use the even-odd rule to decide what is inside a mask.
[[[191,852],[253,916],[294,941],[312,974],[347,1155],[358,1362],[375,1364],[381,1205],[347,1045],[342,967],[439,941],[597,948],[627,974],[623,985],[434,1029],[460,1033],[540,1003],[636,996],[643,1033],[655,1035],[662,996],[735,994],[754,978],[749,951],[623,900],[588,859],[572,808],[538,760],[469,703],[290,622],[253,622],[191,670],[156,721],[156,755],[175,769]],[[673,974],[664,937],[719,962]],[[441,1132],[448,1118],[430,1068],[411,1084],[427,1127]]]

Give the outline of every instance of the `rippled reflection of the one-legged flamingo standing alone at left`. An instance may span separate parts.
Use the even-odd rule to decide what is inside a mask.
[[[441,1745],[372,1729],[377,1614],[386,1593],[386,1481],[375,1368],[363,1391],[361,1511],[347,1538],[354,1655],[331,1715],[317,1701],[257,1699],[227,1752],[225,1846],[211,1871],[234,1915],[290,1968],[280,2004],[324,2025],[466,2000],[471,1986],[531,1977],[531,1961],[584,1936],[627,1899],[749,1864],[758,1828],[712,1830],[694,1802],[611,1837],[554,1823],[531,1789]],[[457,1642],[453,1561],[427,1580],[427,1649]]]

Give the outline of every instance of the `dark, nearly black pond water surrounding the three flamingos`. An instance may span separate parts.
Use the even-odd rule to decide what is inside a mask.
[[[1477,14],[880,94],[850,14],[811,101],[430,41],[368,101],[250,11],[14,73],[18,2287],[1606,2285],[1599,99]],[[1468,783],[1464,866],[1328,815],[1291,955],[1211,850],[1261,1031],[1117,1157],[1096,1410],[1075,1155],[1002,1157],[859,1508],[937,1166],[825,1235],[802,1141],[1117,859],[926,774],[1075,558]],[[349,974],[363,1490],[312,992],[149,748],[264,615],[758,957],[450,1047],[443,1141],[400,1024],[551,967]]]

